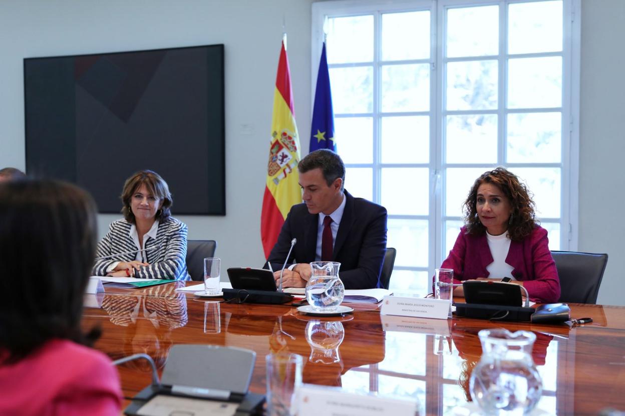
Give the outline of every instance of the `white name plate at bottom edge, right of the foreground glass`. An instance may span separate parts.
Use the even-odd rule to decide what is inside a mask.
[[[417,400],[347,393],[336,388],[302,385],[296,391],[297,416],[414,416]]]

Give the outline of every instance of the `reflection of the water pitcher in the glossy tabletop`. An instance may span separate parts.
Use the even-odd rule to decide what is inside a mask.
[[[311,346],[311,363],[331,364],[341,361],[339,346],[345,337],[338,321],[310,321],[306,324],[306,342]]]

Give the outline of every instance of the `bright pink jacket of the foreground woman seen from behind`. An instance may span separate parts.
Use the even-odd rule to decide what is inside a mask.
[[[122,395],[109,357],[68,340],[49,340],[17,363],[0,350],[0,415],[119,416]]]

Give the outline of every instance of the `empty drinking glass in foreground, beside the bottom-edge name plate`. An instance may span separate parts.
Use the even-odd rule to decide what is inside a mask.
[[[269,354],[267,369],[267,414],[294,415],[295,389],[302,383],[302,357],[297,354]]]

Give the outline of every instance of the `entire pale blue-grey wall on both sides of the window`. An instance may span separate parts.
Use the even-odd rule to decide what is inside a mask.
[[[190,239],[218,241],[217,255],[224,267],[260,265],[260,207],[282,21],[289,33],[297,125],[305,154],[311,118],[311,3],[0,1],[0,166],[25,166],[23,58],[223,43],[227,215],[181,216],[181,220],[189,225]],[[625,211],[621,168],[625,1],[581,3],[579,250],[609,253],[599,303],[625,305],[620,290],[625,270],[621,215]],[[101,234],[114,218],[99,218]]]

